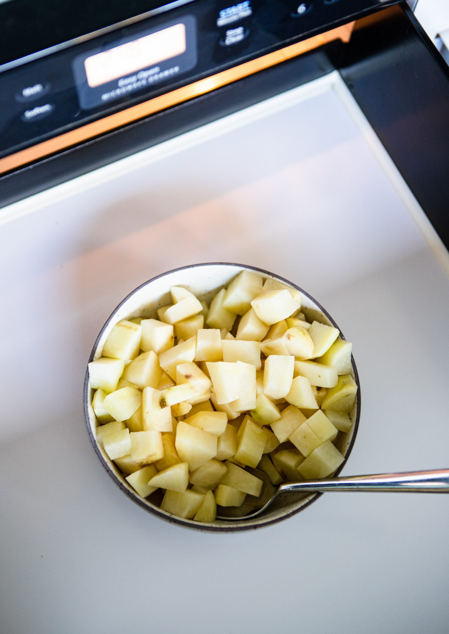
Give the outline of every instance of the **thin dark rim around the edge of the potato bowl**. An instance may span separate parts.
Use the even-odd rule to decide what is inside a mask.
[[[283,278],[280,275],[277,275],[275,273],[271,273],[270,271],[266,271],[265,269],[260,269],[256,266],[250,266],[248,264],[237,264],[236,262],[199,262],[198,264],[188,264],[187,266],[179,266],[178,268],[175,269],[171,269],[170,271],[165,271],[164,273],[160,273],[160,275],[156,275],[155,277],[151,278],[151,280],[147,280],[144,281],[141,285],[139,285],[138,287],[134,288],[134,290],[132,290],[121,302],[120,304],[118,304],[118,306],[113,310],[113,312],[110,314],[110,316],[108,317],[108,319],[105,321],[103,328],[101,328],[98,337],[95,340],[94,346],[92,347],[92,351],[91,354],[89,356],[89,361],[88,363],[91,363],[91,361],[94,360],[94,356],[96,353],[96,349],[98,347],[99,341],[103,335],[103,332],[105,330],[105,328],[108,327],[110,321],[113,319],[113,317],[115,316],[115,314],[117,314],[118,309],[120,309],[121,306],[123,306],[123,304],[125,304],[125,302],[128,301],[129,297],[131,297],[132,295],[134,295],[138,290],[140,290],[141,288],[148,286],[148,284],[151,284],[153,281],[158,280],[160,278],[163,278],[167,275],[170,275],[170,273],[177,273],[177,271],[185,271],[187,269],[194,269],[194,268],[199,268],[202,266],[239,266],[243,269],[249,269],[251,271],[257,271],[258,273],[262,273],[263,275],[269,275],[272,276],[274,278],[277,278],[278,280],[282,280],[284,281],[286,284],[288,284],[289,286],[296,288],[296,290],[299,290],[303,295],[305,295],[306,297],[308,297],[308,299],[310,299],[317,307],[319,307],[320,311],[322,311],[322,313],[324,313],[327,318],[329,319],[329,321],[331,321],[332,325],[334,326],[334,328],[337,328],[339,330],[340,336],[342,339],[345,339],[345,336],[343,335],[343,333],[341,332],[340,328],[338,327],[337,323],[334,321],[334,319],[331,317],[331,315],[326,311],[326,309],[324,309],[321,304],[319,304],[319,302],[317,302],[315,300],[314,297],[312,297],[312,295],[308,294],[305,290],[303,290],[302,288],[300,288],[299,286],[297,286],[296,284],[294,284],[293,282],[286,280],[286,278]],[[334,475],[338,475],[341,470],[343,469],[343,467],[345,467],[346,462],[348,461],[348,458],[351,454],[352,448],[354,446],[355,443],[355,438],[357,437],[357,432],[358,432],[358,425],[360,422],[360,380],[358,378],[358,372],[357,372],[357,366],[355,365],[355,361],[354,358],[351,354],[351,365],[353,368],[353,372],[354,372],[354,378],[355,378],[355,382],[357,384],[357,413],[355,416],[355,421],[354,421],[354,428],[353,428],[353,434],[351,436],[351,441],[350,444],[348,446],[348,450],[346,451],[345,454],[345,460],[343,460],[343,462],[341,463],[341,465],[338,467],[338,469],[336,470]],[[315,493],[315,495],[312,496],[312,498],[310,498],[310,500],[308,500],[307,503],[305,503],[303,506],[301,506],[300,508],[296,508],[293,511],[286,513],[285,515],[282,515],[281,517],[276,517],[275,519],[269,520],[267,522],[263,522],[263,523],[257,523],[258,519],[260,517],[263,517],[263,515],[258,515],[257,518],[255,519],[255,524],[237,524],[237,525],[233,525],[233,526],[226,526],[225,524],[211,524],[210,526],[206,525],[206,524],[199,524],[198,526],[197,524],[193,524],[192,521],[185,521],[182,517],[176,517],[175,515],[171,515],[171,517],[168,517],[167,514],[165,513],[161,513],[159,512],[157,507],[149,507],[148,505],[146,505],[146,503],[144,503],[144,500],[137,495],[137,493],[133,493],[132,491],[129,491],[129,489],[127,489],[125,486],[123,486],[122,482],[120,481],[120,479],[118,479],[117,475],[115,475],[115,473],[113,472],[113,470],[111,469],[111,467],[108,465],[108,463],[106,462],[106,460],[104,460],[103,455],[101,454],[101,451],[99,450],[98,447],[98,443],[96,441],[96,438],[94,437],[94,434],[92,433],[92,429],[91,429],[91,425],[90,425],[90,421],[89,421],[89,399],[88,399],[88,394],[89,394],[89,366],[87,366],[86,371],[85,371],[85,377],[84,377],[84,391],[83,391],[83,397],[84,397],[84,422],[85,422],[85,427],[87,430],[87,436],[89,437],[89,441],[92,445],[93,450],[95,451],[99,461],[101,462],[101,465],[103,466],[103,469],[106,470],[106,472],[108,473],[108,475],[110,475],[111,479],[113,480],[113,482],[118,486],[118,488],[123,491],[123,493],[125,493],[125,495],[127,495],[130,500],[134,501],[134,503],[136,503],[137,505],[139,505],[139,507],[144,508],[144,510],[146,510],[146,512],[148,513],[153,513],[154,515],[157,515],[158,517],[160,517],[161,519],[165,520],[166,522],[170,522],[170,524],[179,524],[179,526],[184,526],[193,530],[199,530],[199,531],[208,531],[211,533],[235,533],[235,532],[241,532],[241,531],[251,531],[251,530],[255,530],[258,528],[263,528],[263,527],[267,527],[267,526],[272,526],[272,524],[277,524],[277,522],[281,522],[284,521],[284,519],[288,519],[288,517],[292,517],[293,515],[296,515],[297,513],[300,513],[301,511],[303,511],[305,508],[307,508],[308,506],[310,506],[313,502],[315,502],[316,500],[318,500],[318,498],[320,496],[322,496],[322,493]]]

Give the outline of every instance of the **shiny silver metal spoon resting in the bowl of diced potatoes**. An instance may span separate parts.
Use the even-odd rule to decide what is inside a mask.
[[[397,474],[351,475],[350,477],[333,477],[322,480],[308,480],[305,482],[286,482],[285,484],[280,484],[277,489],[274,489],[272,486],[267,487],[264,482],[260,495],[260,503],[262,504],[260,508],[241,517],[232,517],[231,511],[228,517],[217,515],[217,519],[233,522],[253,519],[253,517],[260,515],[269,507],[272,501],[281,495],[281,493],[308,493],[310,491],[449,493],[449,469],[410,471]]]

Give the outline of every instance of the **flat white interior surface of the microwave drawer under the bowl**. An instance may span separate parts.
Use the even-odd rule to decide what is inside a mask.
[[[445,631],[446,496],[327,493],[261,531],[187,531],[123,496],[84,429],[85,366],[115,306],[168,269],[229,261],[298,284],[353,341],[346,475],[449,466],[448,254],[338,74],[0,223],[4,631]]]

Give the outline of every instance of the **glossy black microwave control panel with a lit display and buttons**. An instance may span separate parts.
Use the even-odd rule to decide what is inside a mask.
[[[0,157],[395,0],[228,3],[168,5],[0,66]]]

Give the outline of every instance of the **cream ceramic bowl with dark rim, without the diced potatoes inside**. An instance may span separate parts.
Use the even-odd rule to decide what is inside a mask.
[[[158,275],[153,280],[146,281],[141,286],[133,290],[128,297],[125,297],[123,301],[117,306],[115,311],[111,314],[110,318],[106,321],[101,332],[99,333],[97,340],[92,349],[89,361],[93,361],[101,356],[104,342],[108,337],[113,326],[120,320],[132,319],[133,317],[146,316],[155,317],[156,309],[161,306],[166,306],[171,303],[170,300],[170,286],[179,285],[184,286],[191,290],[199,299],[206,299],[209,301],[220,287],[227,285],[227,283],[244,269],[248,271],[255,271],[260,275],[268,278],[272,278],[277,281],[281,281],[284,284],[289,285],[292,288],[297,288],[301,291],[303,296],[301,310],[307,316],[308,321],[317,320],[327,325],[332,325],[340,330],[339,326],[335,323],[332,317],[327,311],[316,302],[313,297],[307,294],[302,288],[296,286],[294,283],[288,280],[284,280],[274,273],[269,271],[263,271],[262,269],[255,268],[253,266],[243,266],[242,264],[228,264],[227,262],[213,262],[211,264],[193,264],[192,266],[184,266],[174,271],[168,271],[162,275]],[[341,330],[340,330],[341,333]],[[343,333],[341,333],[343,337]],[[339,432],[336,446],[339,451],[345,456],[345,461],[339,467],[337,474],[343,469],[348,456],[350,455],[353,447],[355,436],[357,434],[358,421],[360,418],[360,384],[358,382],[357,368],[352,359],[352,375],[357,383],[358,392],[357,399],[355,401],[353,410],[350,413],[352,421],[351,430],[347,434]],[[140,507],[146,511],[158,515],[162,519],[180,526],[187,526],[197,530],[207,530],[216,532],[228,532],[228,531],[244,531],[248,529],[260,528],[262,526],[269,526],[275,522],[287,519],[302,510],[305,510],[312,502],[316,501],[321,493],[305,494],[287,494],[279,496],[277,500],[262,514],[255,519],[248,521],[216,521],[213,524],[202,524],[194,522],[189,519],[182,519],[168,514],[161,510],[155,503],[148,499],[141,498],[137,495],[136,491],[129,486],[125,480],[125,476],[115,466],[110,458],[106,455],[103,447],[96,440],[96,427],[98,422],[92,409],[92,389],[89,385],[89,373],[86,371],[84,382],[84,415],[85,424],[87,427],[87,434],[91,441],[92,447],[99,461],[103,465],[104,469],[108,472],[111,479],[122,489],[125,495],[129,496],[131,500],[136,502]]]

